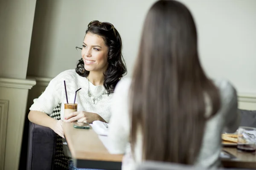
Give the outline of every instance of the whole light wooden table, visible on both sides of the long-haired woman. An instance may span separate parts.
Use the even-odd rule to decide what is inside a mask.
[[[63,123],[64,136],[76,167],[92,169],[120,170],[122,155],[113,155],[102,144],[92,129],[76,129],[73,123]],[[256,169],[256,155],[239,152],[236,147],[223,147],[236,156],[237,160],[223,159],[224,167]]]

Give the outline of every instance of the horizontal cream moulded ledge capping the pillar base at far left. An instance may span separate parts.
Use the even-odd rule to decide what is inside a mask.
[[[35,79],[0,78],[0,87],[31,89],[35,84]]]

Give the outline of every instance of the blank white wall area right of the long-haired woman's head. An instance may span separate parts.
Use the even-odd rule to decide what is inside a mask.
[[[208,75],[256,94],[256,0],[180,0],[194,15]]]

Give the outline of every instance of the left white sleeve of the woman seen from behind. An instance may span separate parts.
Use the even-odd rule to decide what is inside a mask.
[[[112,154],[123,154],[129,142],[130,120],[128,109],[128,93],[130,79],[121,80],[113,94],[111,106],[111,119],[109,123],[108,138],[111,144]]]

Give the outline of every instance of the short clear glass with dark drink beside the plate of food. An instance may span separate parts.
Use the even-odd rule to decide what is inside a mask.
[[[256,128],[241,126],[238,129],[237,149],[244,152],[256,151]]]

